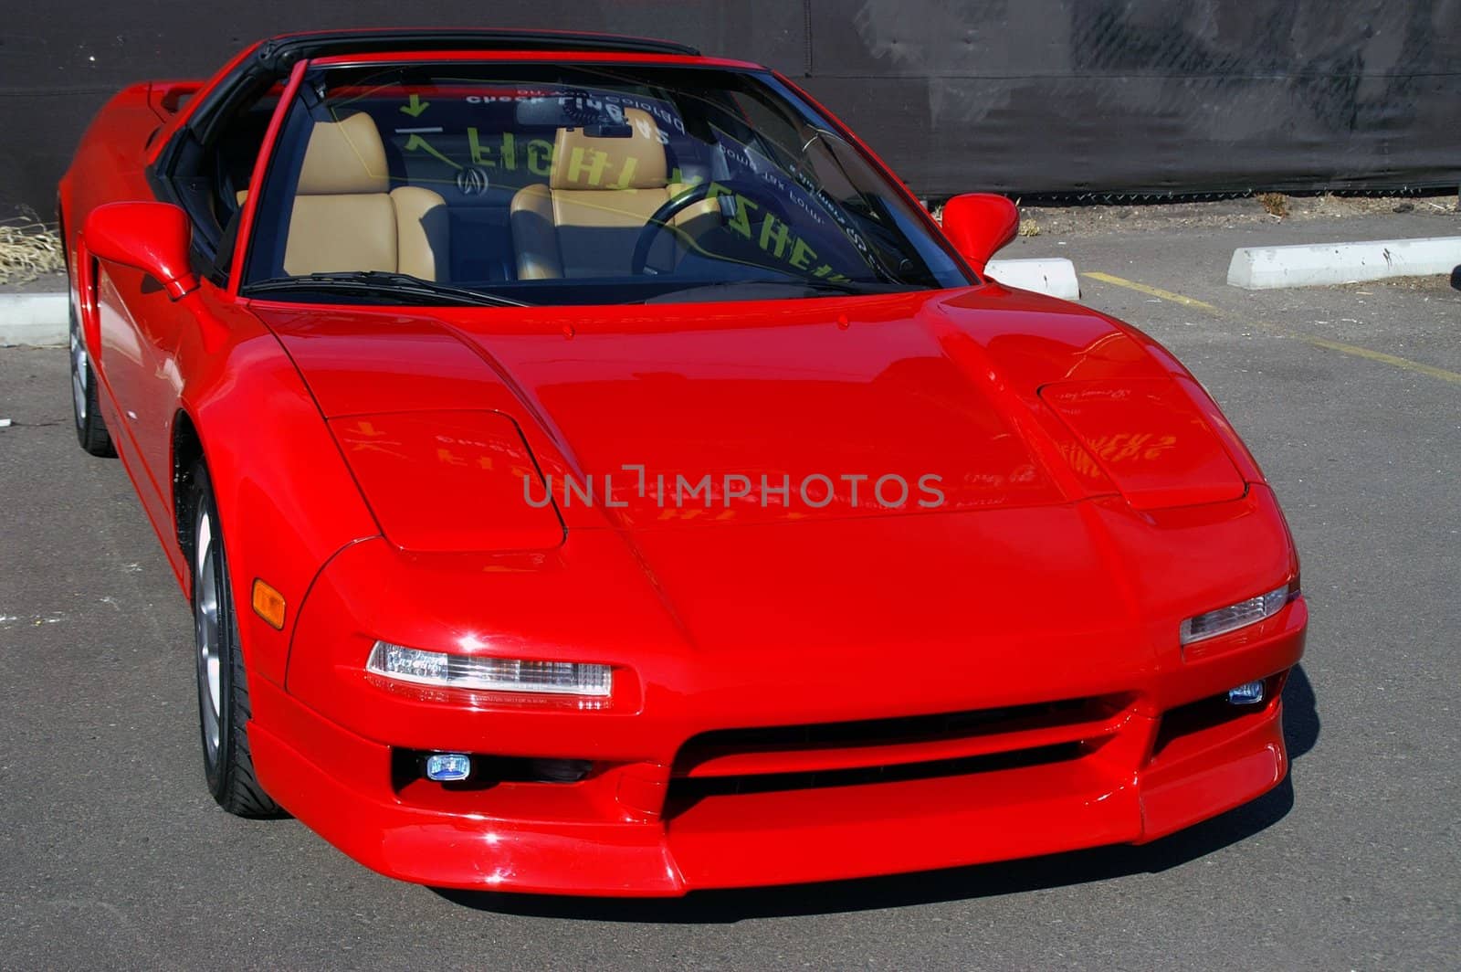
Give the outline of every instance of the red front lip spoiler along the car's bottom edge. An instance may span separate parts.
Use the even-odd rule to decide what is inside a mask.
[[[386,747],[304,709],[295,718],[295,731],[308,724],[332,763],[374,767],[361,776],[378,778],[390,760]],[[1121,756],[1138,754],[1154,735],[1153,721],[1132,716]],[[1125,779],[1118,764],[1087,756],[1046,767],[722,797],[672,819],[638,821],[507,820],[409,805],[355,773],[320,766],[269,729],[254,731],[253,745],[259,766],[269,767],[262,776],[270,794],[375,871],[432,887],[561,895],[678,896],[1143,843],[1254,800],[1287,772],[1277,702],[1180,757],[1147,760]],[[571,788],[592,785],[599,783]]]

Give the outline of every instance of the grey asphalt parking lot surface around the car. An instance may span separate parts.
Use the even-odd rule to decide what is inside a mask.
[[[1385,216],[1264,243],[1442,235]],[[1293,772],[1143,848],[671,902],[441,895],[202,781],[188,611],[61,349],[0,349],[0,966],[1455,968],[1461,294],[1245,292],[1261,228],[1020,240],[1172,348],[1293,526],[1311,601]],[[1363,235],[1362,235],[1363,234]]]

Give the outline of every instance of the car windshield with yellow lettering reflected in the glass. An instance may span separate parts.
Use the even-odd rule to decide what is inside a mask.
[[[244,292],[619,304],[969,282],[916,203],[767,73],[413,63],[305,76]]]

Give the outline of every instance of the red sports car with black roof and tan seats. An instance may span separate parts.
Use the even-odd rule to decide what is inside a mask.
[[[1141,332],[773,70],[281,37],[60,184],[76,433],[193,604],[207,786],[432,886],[1140,843],[1287,759],[1299,561]]]

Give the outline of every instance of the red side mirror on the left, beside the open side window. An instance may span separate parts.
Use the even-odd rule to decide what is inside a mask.
[[[102,260],[148,273],[177,300],[197,288],[188,267],[187,213],[169,203],[107,203],[82,225],[86,248]]]

